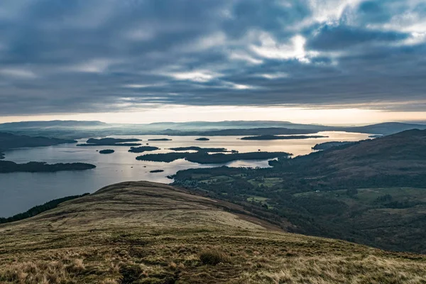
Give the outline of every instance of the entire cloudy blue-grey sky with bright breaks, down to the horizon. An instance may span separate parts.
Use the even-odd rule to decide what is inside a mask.
[[[1,0],[0,122],[426,121],[424,0]]]

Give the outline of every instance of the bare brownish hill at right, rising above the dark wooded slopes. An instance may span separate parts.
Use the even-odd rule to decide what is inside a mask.
[[[420,179],[418,185],[421,185],[426,173],[426,130],[413,129],[349,143],[297,157],[292,163],[300,163],[300,167],[309,173],[332,173],[342,182],[354,178],[359,178],[360,182],[383,178],[389,183],[396,182],[393,185],[407,185],[408,181],[413,185]]]

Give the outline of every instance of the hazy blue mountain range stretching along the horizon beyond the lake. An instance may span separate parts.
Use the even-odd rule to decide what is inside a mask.
[[[0,124],[0,131],[61,138],[144,134],[170,136],[290,135],[317,133],[319,131],[348,131],[389,135],[409,129],[426,129],[426,124],[386,122],[367,126],[324,126],[318,124],[293,124],[289,121],[191,121],[153,124],[106,124],[101,121],[22,121]]]

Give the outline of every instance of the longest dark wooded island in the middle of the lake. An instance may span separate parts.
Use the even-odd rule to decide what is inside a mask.
[[[165,162],[170,163],[174,160],[185,159],[192,163],[199,164],[215,164],[215,163],[229,163],[234,160],[268,160],[270,158],[290,157],[290,153],[286,152],[249,152],[249,153],[234,153],[224,154],[216,153],[209,154],[204,152],[197,153],[159,153],[159,154],[146,154],[136,157],[136,160],[146,160],[152,162]]]

